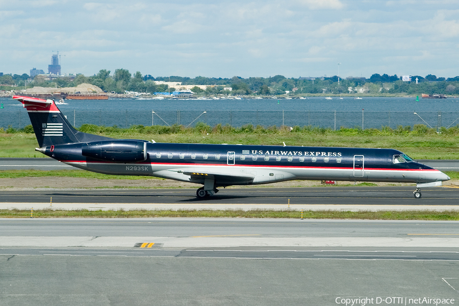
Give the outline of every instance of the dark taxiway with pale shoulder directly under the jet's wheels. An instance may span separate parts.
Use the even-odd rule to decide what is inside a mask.
[[[200,200],[195,189],[2,191],[4,209],[295,209],[459,210],[459,188],[436,187],[413,197],[414,187],[226,188]]]

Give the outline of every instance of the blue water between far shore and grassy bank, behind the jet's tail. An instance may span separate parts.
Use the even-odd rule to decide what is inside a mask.
[[[0,127],[15,128],[30,124],[22,105],[10,98],[0,98],[4,109],[0,109]],[[209,125],[218,123],[241,126],[253,125],[313,125],[339,129],[345,127],[426,124],[436,128],[459,123],[459,98],[422,99],[397,97],[364,97],[354,99],[324,97],[307,99],[164,99],[164,100],[66,100],[68,105],[59,105],[70,123],[117,125],[133,124],[193,126],[197,122]],[[152,112],[155,112],[154,114]],[[204,113],[206,112],[206,113]],[[416,114],[415,114],[416,113]]]

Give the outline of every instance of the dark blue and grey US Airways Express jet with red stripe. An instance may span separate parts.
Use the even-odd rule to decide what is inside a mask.
[[[395,149],[157,143],[113,139],[75,130],[52,99],[12,97],[27,109],[39,147],[65,164],[98,173],[163,177],[203,185],[198,199],[219,187],[289,180],[416,183],[441,186],[450,177]]]

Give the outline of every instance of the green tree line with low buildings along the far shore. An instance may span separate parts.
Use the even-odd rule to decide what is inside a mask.
[[[86,77],[77,74],[75,78],[59,77],[46,80],[43,75],[37,75],[33,80],[28,74],[6,74],[0,77],[1,90],[14,90],[14,87],[74,87],[82,83],[89,83],[100,87],[106,92],[124,93],[135,92],[170,92],[176,88],[169,88],[166,84],[155,84],[155,81],[179,82],[182,85],[209,85],[206,90],[199,87],[192,91],[203,95],[231,94],[231,95],[306,95],[306,94],[459,94],[459,76],[454,78],[437,78],[428,74],[425,77],[413,75],[411,82],[400,80],[397,75],[374,73],[369,79],[347,78],[341,79],[337,75],[322,78],[286,78],[275,75],[269,78],[207,78],[207,77],[152,77],[143,75],[140,71],[131,74],[127,69],[116,69],[113,74],[110,70],[101,69],[97,74]],[[417,82],[416,82],[417,79]],[[225,89],[226,88],[226,89]],[[227,88],[232,88],[228,90]],[[178,88],[177,88],[178,89]]]

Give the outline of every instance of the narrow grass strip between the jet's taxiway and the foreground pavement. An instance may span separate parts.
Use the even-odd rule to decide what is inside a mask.
[[[304,211],[304,219],[459,220],[457,211]],[[30,218],[30,210],[0,210],[0,218]],[[300,219],[296,210],[34,210],[34,218],[287,218]]]

